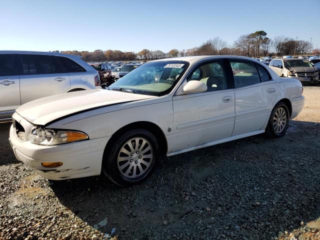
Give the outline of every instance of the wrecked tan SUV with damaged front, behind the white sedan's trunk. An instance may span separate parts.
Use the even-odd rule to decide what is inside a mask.
[[[302,82],[318,83],[319,71],[306,59],[277,58],[270,61],[269,67],[279,76],[296,78]]]

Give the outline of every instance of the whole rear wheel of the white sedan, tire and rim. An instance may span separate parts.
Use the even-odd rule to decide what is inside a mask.
[[[271,111],[265,132],[271,137],[283,136],[289,125],[289,110],[285,103],[277,103]]]

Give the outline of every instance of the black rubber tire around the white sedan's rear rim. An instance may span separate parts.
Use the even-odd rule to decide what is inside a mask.
[[[284,110],[284,114],[285,114],[285,117],[286,117],[286,121],[284,123],[284,127],[283,129],[277,129],[276,126],[274,126],[274,124],[276,125],[277,124],[277,121],[278,120],[274,120],[273,117],[277,118],[276,117],[276,112],[277,110],[281,108]],[[284,102],[278,102],[272,109],[271,111],[271,114],[270,114],[270,117],[269,117],[269,120],[268,120],[268,124],[265,128],[265,133],[270,136],[270,137],[280,137],[280,136],[283,136],[288,128],[288,125],[289,125],[289,110],[288,110],[288,107],[287,105],[284,103]],[[281,121],[282,121],[282,118],[281,118]],[[279,124],[281,124],[281,121]]]

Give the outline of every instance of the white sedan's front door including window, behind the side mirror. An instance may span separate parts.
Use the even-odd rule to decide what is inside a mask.
[[[207,90],[173,96],[174,151],[229,137],[234,125],[234,91],[222,61],[200,64],[186,80],[202,81]]]

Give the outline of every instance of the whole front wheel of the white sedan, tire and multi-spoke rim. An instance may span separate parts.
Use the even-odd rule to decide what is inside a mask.
[[[131,186],[151,174],[157,157],[158,143],[153,134],[144,129],[130,130],[105,152],[102,170],[114,183]]]

